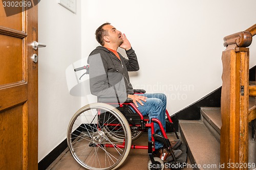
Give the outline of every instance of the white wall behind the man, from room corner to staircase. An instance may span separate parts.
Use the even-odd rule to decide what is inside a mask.
[[[134,88],[164,92],[174,114],[222,85],[223,37],[252,26],[255,5],[254,0],[82,1],[82,57],[98,45],[95,30],[111,22],[137,54],[140,70],[130,74]]]

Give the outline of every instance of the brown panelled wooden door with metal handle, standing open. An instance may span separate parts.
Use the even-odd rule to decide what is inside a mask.
[[[38,162],[38,65],[31,59],[37,53],[31,44],[37,41],[37,6],[25,11],[18,8],[18,13],[6,16],[3,2],[0,1],[0,169],[34,170]]]

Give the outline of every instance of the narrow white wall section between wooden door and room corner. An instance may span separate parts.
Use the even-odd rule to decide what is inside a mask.
[[[66,138],[69,120],[80,108],[81,99],[69,94],[66,68],[81,58],[81,10],[76,14],[63,8],[57,0],[38,4],[39,49],[39,129],[38,162]]]

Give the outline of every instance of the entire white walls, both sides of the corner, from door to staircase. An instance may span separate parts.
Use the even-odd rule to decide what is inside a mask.
[[[57,0],[40,1],[38,39],[47,47],[39,50],[38,62],[38,162],[66,138],[74,112],[96,101],[70,95],[65,71],[99,45],[94,33],[103,22],[125,33],[137,53],[140,70],[131,74],[133,86],[166,93],[173,114],[222,85],[223,37],[252,26],[255,6],[254,0],[77,0],[73,14]]]

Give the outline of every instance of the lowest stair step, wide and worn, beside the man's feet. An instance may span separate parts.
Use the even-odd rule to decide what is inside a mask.
[[[179,120],[179,124],[194,169],[220,169],[220,143],[207,127],[200,120]]]

